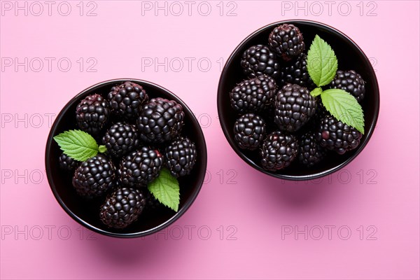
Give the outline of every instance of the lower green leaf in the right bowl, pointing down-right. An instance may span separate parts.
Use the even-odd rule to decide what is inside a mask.
[[[363,109],[353,95],[339,89],[324,90],[321,93],[321,100],[325,109],[337,120],[365,134]]]

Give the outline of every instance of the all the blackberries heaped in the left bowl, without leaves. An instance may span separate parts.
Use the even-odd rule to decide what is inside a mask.
[[[197,150],[181,136],[184,112],[181,104],[164,98],[149,99],[141,85],[127,81],[111,88],[106,97],[92,94],[76,107],[78,127],[106,146],[85,162],[67,155],[59,166],[73,171],[73,187],[84,197],[109,194],[100,219],[111,228],[125,228],[142,211],[162,204],[148,192],[162,167],[173,176],[193,169]]]

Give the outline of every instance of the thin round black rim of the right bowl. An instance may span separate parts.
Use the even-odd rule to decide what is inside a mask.
[[[227,75],[227,72],[226,72],[227,69],[228,69],[228,66],[230,66],[230,64],[232,64],[232,60],[234,59],[234,57],[236,57],[239,49],[241,49],[246,43],[248,43],[248,41],[250,41],[254,36],[256,36],[257,34],[260,34],[261,32],[265,31],[266,29],[274,28],[277,25],[281,25],[281,24],[284,24],[284,23],[290,23],[290,22],[295,24],[295,25],[299,25],[299,23],[302,22],[304,24],[313,25],[314,27],[323,27],[323,28],[329,29],[334,34],[336,34],[338,36],[342,36],[344,39],[346,39],[349,42],[349,44],[353,45],[353,47],[356,48],[356,50],[358,50],[358,52],[360,52],[360,54],[362,55],[365,62],[369,62],[369,63],[367,63],[367,65],[369,67],[369,71],[374,76],[374,78],[372,79],[372,87],[374,89],[376,89],[376,92],[378,92],[377,103],[374,104],[375,106],[374,106],[374,108],[372,108],[373,113],[374,113],[373,120],[372,120],[372,125],[370,125],[367,132],[365,132],[365,134],[364,134],[365,141],[358,147],[358,149],[356,150],[356,153],[354,153],[353,155],[351,155],[350,158],[348,158],[347,160],[345,160],[341,164],[336,165],[335,167],[324,170],[322,172],[316,172],[316,173],[311,174],[311,175],[274,174],[272,172],[269,172],[269,171],[263,169],[259,165],[256,165],[255,162],[253,162],[252,160],[249,160],[244,155],[244,153],[242,153],[241,150],[239,150],[239,148],[237,148],[237,146],[232,141],[232,139],[230,139],[230,137],[228,135],[228,130],[230,130],[230,127],[227,127],[227,124],[223,121],[225,119],[225,114],[223,113],[223,110],[222,110],[222,107],[223,107],[223,98],[222,97],[223,97],[223,94],[225,94],[225,92],[223,92],[223,84],[225,83],[225,80],[228,79],[228,75]],[[361,153],[361,151],[363,151],[363,149],[365,148],[367,143],[370,141],[370,138],[372,137],[374,129],[377,125],[377,120],[379,118],[379,106],[380,106],[380,94],[379,94],[379,85],[378,85],[378,81],[377,81],[377,76],[376,76],[376,73],[374,72],[373,66],[370,63],[369,59],[367,58],[365,52],[363,52],[363,50],[349,36],[344,34],[342,31],[339,31],[338,29],[335,29],[334,27],[331,27],[330,25],[326,25],[325,23],[316,22],[314,20],[301,20],[301,19],[280,20],[280,21],[277,21],[277,22],[272,22],[268,25],[265,25],[265,26],[260,27],[259,29],[255,30],[255,31],[253,31],[251,34],[246,36],[246,38],[244,38],[244,40],[242,40],[241,43],[239,43],[239,45],[237,45],[235,50],[232,51],[229,58],[226,60],[225,66],[223,66],[223,71],[221,73],[221,77],[220,77],[219,83],[218,83],[217,110],[218,110],[219,122],[221,123],[223,134],[225,135],[225,138],[228,141],[228,143],[230,144],[230,146],[232,147],[232,149],[235,151],[235,153],[237,155],[239,155],[239,157],[242,160],[244,160],[244,162],[246,162],[248,165],[250,165],[254,169],[257,169],[258,171],[260,171],[264,174],[267,174],[269,176],[273,176],[277,179],[285,179],[285,180],[290,180],[290,181],[304,181],[304,180],[318,179],[318,178],[321,178],[323,176],[327,176],[329,174],[337,172],[339,169],[342,169],[343,167],[348,165],[352,160],[354,160]]]

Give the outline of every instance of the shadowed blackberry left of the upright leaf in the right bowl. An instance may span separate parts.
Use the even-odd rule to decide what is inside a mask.
[[[309,90],[313,90],[316,87],[315,83],[311,79],[311,76],[309,76],[307,68],[307,55],[303,52],[281,67],[280,73],[281,85],[294,83],[302,87],[307,87]]]

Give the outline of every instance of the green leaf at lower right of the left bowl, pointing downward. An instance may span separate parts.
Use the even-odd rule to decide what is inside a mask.
[[[160,170],[158,178],[148,184],[148,190],[160,203],[174,211],[179,208],[179,182],[168,169]]]

